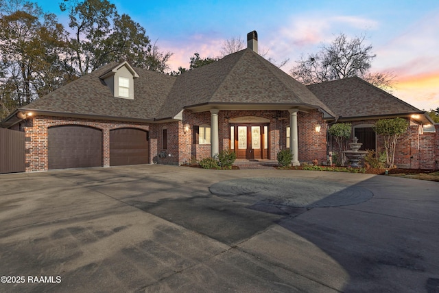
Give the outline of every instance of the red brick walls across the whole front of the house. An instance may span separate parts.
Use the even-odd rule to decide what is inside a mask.
[[[230,147],[230,119],[239,117],[260,117],[268,119],[269,155],[276,160],[279,150],[287,146],[287,110],[219,110],[219,150]],[[374,124],[375,120],[354,121],[353,126]],[[102,166],[110,165],[110,130],[117,128],[139,128],[147,130],[150,138],[150,163],[180,165],[191,159],[203,159],[211,156],[210,144],[198,144],[193,141],[193,126],[211,125],[211,113],[193,113],[185,110],[182,121],[163,124],[142,124],[123,121],[106,121],[68,117],[35,116],[27,121],[25,130],[26,172],[38,172],[48,169],[47,128],[60,125],[91,126],[102,130]],[[267,125],[267,124],[265,124]],[[320,132],[316,132],[320,125]],[[185,130],[185,126],[189,126]],[[407,132],[399,139],[396,147],[395,164],[398,167],[438,169],[439,125],[436,132],[421,133],[417,124],[411,123]],[[167,132],[167,148],[164,148],[163,130]],[[360,141],[361,142],[361,141]],[[382,150],[382,139],[377,136],[377,148]],[[298,159],[310,163],[318,160],[327,162],[327,151],[337,150],[334,142],[329,140],[327,148],[327,123],[318,110],[308,113],[298,112]]]

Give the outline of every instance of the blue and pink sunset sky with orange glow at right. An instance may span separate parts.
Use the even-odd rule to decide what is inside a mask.
[[[316,53],[344,33],[366,35],[377,57],[372,71],[396,75],[393,95],[421,110],[439,107],[438,0],[217,0],[123,1],[119,13],[139,22],[161,51],[171,51],[171,69],[189,67],[189,58],[217,57],[226,39],[258,32],[259,50],[278,62],[289,58],[284,71],[301,54]],[[54,12],[67,25],[58,1],[38,0],[45,12]]]

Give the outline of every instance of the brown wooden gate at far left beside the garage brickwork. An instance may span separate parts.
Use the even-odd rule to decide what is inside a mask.
[[[25,132],[0,128],[0,173],[25,172]]]

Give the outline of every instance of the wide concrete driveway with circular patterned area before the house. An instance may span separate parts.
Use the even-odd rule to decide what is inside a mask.
[[[3,174],[0,223],[1,292],[439,292],[429,181],[164,165]]]

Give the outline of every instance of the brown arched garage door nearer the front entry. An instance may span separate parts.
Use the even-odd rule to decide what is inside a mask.
[[[110,130],[110,166],[150,163],[147,134],[136,128]]]

